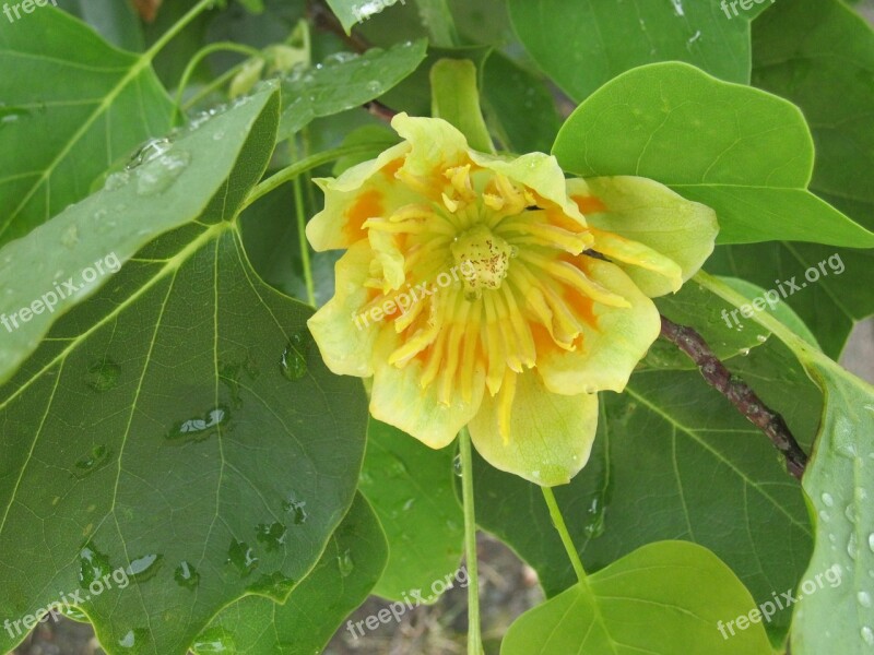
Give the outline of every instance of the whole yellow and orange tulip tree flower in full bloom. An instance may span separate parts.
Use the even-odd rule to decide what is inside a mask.
[[[392,127],[400,144],[317,180],[307,237],[347,251],[312,336],[335,373],[374,377],[374,417],[432,448],[468,425],[497,468],[567,483],[597,392],[625,388],[659,335],[650,298],[707,259],[716,216],[652,180],[472,151],[439,119]]]

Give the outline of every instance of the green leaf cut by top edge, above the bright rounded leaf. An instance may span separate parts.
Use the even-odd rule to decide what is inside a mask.
[[[685,61],[749,82],[749,20],[718,1],[509,0],[516,33],[540,68],[575,100],[630,69]]]

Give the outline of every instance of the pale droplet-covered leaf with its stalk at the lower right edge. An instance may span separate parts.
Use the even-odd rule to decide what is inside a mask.
[[[727,301],[746,298],[709,275]],[[795,598],[792,652],[870,653],[874,646],[874,388],[847,372],[770,315],[755,320],[795,354],[825,394],[816,446],[803,477],[816,526],[814,552]]]

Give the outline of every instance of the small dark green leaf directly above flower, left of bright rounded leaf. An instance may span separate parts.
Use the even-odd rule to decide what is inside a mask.
[[[505,150],[550,152],[562,124],[552,93],[542,80],[494,51],[483,70],[483,96],[488,122]]]

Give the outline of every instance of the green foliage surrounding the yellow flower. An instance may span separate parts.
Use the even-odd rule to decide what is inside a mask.
[[[109,655],[321,652],[369,594],[458,569],[461,473],[547,596],[505,655],[870,652],[874,389],[832,360],[874,313],[874,33],[854,9],[144,4],[0,13],[0,651],[79,590],[62,609]],[[802,480],[665,340],[600,394],[563,521],[539,486],[368,417],[369,385],[326,367],[307,321],[373,281],[335,289],[342,253],[305,229],[314,178],[395,145],[399,111],[713,209],[705,267],[727,277],[656,305],[757,394],[748,416],[784,417]],[[594,227],[610,211],[580,207]],[[683,222],[630,227],[682,250]]]

